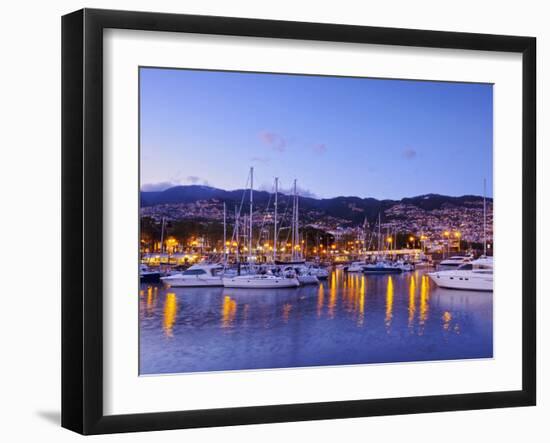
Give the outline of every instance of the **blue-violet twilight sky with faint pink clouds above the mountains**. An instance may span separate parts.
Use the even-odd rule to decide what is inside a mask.
[[[141,68],[141,188],[255,188],[400,199],[492,196],[493,89]]]

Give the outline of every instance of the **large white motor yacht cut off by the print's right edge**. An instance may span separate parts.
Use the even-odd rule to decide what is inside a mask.
[[[481,257],[464,263],[457,269],[429,272],[428,276],[439,287],[470,291],[493,290],[493,258]]]

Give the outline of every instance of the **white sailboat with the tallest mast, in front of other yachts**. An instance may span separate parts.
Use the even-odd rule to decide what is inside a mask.
[[[252,262],[252,227],[253,227],[253,205],[254,205],[254,168],[250,168],[250,215],[248,226],[248,261]],[[276,229],[277,223],[275,223]],[[275,237],[276,238],[276,237]],[[276,249],[276,245],[275,248]],[[226,288],[242,288],[242,289],[276,289],[276,288],[295,288],[300,286],[300,282],[295,277],[287,277],[285,275],[274,275],[268,270],[262,273],[250,275],[235,275],[226,276],[222,279],[223,285]]]

